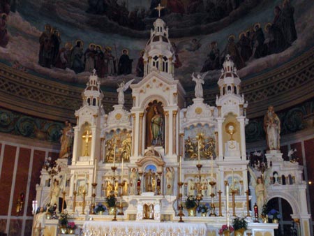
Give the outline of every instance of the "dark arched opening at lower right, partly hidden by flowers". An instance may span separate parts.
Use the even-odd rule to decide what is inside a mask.
[[[271,198],[267,202],[269,210],[276,209],[281,214],[278,229],[275,230],[275,236],[297,236],[297,226],[294,225],[291,214],[292,207],[284,198]]]

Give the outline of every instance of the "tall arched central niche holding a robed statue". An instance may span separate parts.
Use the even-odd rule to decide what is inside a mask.
[[[165,115],[161,102],[149,103],[146,109],[146,147],[165,145]]]

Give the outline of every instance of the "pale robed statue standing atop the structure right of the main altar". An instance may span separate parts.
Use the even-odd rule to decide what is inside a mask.
[[[280,150],[281,144],[281,120],[274,111],[274,106],[268,107],[264,116],[264,131],[267,139],[268,150]]]

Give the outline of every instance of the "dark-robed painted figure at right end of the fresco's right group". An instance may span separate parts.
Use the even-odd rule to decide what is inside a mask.
[[[283,1],[283,35],[287,43],[291,45],[297,39],[297,31],[294,24],[294,7],[291,6],[290,0]]]

